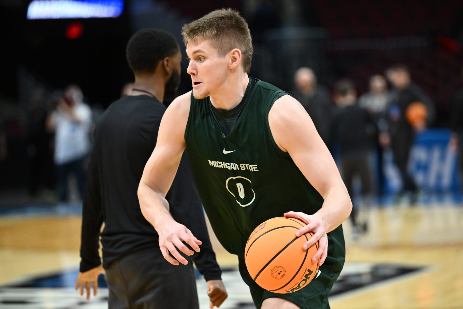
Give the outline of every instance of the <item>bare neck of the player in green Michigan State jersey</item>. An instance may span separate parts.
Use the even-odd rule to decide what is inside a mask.
[[[225,81],[210,96],[212,105],[220,110],[230,110],[237,106],[244,97],[249,84],[247,73],[233,76]]]

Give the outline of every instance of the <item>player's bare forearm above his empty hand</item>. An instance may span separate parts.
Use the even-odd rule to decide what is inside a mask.
[[[159,222],[172,219],[169,203],[164,196],[142,183],[138,187],[138,201],[143,216],[155,229]]]

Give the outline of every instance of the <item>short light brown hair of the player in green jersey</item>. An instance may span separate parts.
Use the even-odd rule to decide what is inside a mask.
[[[183,43],[206,38],[218,50],[219,57],[238,48],[241,50],[244,72],[249,73],[252,60],[252,39],[248,24],[232,9],[215,10],[181,28]]]

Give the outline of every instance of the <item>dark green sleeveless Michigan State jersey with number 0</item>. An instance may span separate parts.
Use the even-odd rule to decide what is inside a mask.
[[[210,98],[191,96],[185,141],[196,187],[215,235],[240,258],[250,234],[263,221],[290,210],[314,214],[323,203],[270,132],[270,107],[286,94],[257,81],[226,136]],[[329,233],[328,239],[328,254],[344,262],[342,227]]]

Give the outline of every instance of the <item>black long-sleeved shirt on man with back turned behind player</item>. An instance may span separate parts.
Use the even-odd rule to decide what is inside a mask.
[[[80,271],[101,264],[98,240],[103,222],[104,268],[130,252],[159,250],[158,234],[141,212],[137,189],[156,145],[165,110],[151,96],[126,95],[115,101],[98,121],[82,209]],[[200,252],[191,257],[200,273],[206,281],[220,279],[221,271],[186,156],[185,152],[166,199],[172,217],[202,241]]]

